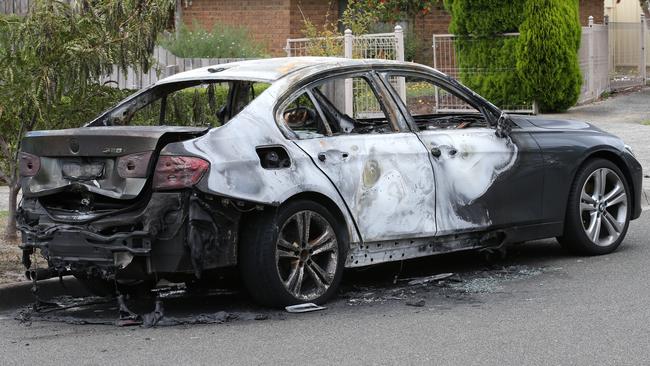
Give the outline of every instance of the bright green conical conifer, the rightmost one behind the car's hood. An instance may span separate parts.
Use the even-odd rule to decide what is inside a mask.
[[[565,111],[580,96],[578,0],[529,0],[517,46],[523,87],[546,112]]]

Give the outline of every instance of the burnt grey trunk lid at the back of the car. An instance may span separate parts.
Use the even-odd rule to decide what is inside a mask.
[[[27,198],[52,212],[106,212],[132,203],[147,185],[158,151],[170,142],[204,134],[206,128],[171,126],[83,127],[34,131],[23,139],[23,156],[38,170],[23,176]],[[87,217],[88,215],[82,215]]]

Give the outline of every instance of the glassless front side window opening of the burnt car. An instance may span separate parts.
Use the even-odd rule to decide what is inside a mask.
[[[388,75],[388,81],[420,130],[488,126],[479,110],[430,79]]]

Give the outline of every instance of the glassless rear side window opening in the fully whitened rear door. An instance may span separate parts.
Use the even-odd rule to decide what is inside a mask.
[[[396,131],[364,77],[331,78],[307,90],[283,112],[284,122],[301,139]]]

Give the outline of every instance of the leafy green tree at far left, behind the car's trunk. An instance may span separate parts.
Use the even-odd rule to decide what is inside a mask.
[[[9,185],[8,237],[16,235],[18,151],[33,129],[78,127],[119,91],[97,85],[114,64],[149,69],[174,0],[35,1],[0,17],[0,180]],[[89,108],[91,107],[92,108]]]

